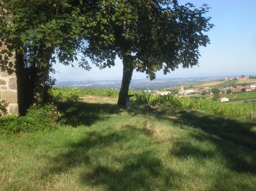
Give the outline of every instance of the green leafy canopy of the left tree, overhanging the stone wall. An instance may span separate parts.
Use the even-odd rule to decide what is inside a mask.
[[[12,43],[11,52],[28,53],[28,59],[38,63],[39,47],[53,47],[59,62],[77,60],[79,40],[87,34],[83,26],[92,25],[91,18],[83,17],[88,6],[66,0],[3,0],[0,5],[0,34]]]

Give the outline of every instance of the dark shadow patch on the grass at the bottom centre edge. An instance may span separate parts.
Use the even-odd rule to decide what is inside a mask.
[[[161,172],[161,160],[150,150],[138,154],[127,154],[116,158],[121,169],[108,165],[97,165],[92,172],[82,174],[81,181],[92,186],[105,185],[106,190],[152,190],[152,183]]]

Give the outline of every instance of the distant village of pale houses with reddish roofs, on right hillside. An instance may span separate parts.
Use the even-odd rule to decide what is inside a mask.
[[[249,79],[249,76],[242,76],[242,77],[237,77],[237,78],[224,78],[223,80],[228,81],[228,80],[244,80],[244,79]],[[220,95],[224,95],[224,94],[229,94],[229,93],[233,93],[233,92],[247,92],[247,91],[252,91],[256,89],[256,84],[250,84],[250,85],[229,85],[229,86],[224,86],[222,88],[217,89],[212,89],[209,87],[203,87],[200,89],[196,89],[196,88],[188,88],[185,89],[183,85],[180,86],[180,90],[178,91],[178,93],[175,93],[175,96],[186,96],[186,95],[191,95],[191,94],[201,94],[201,95],[210,95],[210,96],[214,96],[214,93],[218,93]],[[151,90],[144,90],[144,92],[148,92],[151,93]],[[167,94],[171,94],[170,91],[154,91],[153,94],[159,94],[159,95],[167,95]],[[220,97],[218,98],[218,100],[220,102],[228,102],[228,98],[226,97]]]

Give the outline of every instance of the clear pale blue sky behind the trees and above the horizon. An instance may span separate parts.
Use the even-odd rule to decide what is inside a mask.
[[[256,0],[178,0],[179,4],[190,2],[196,7],[208,4],[211,9],[205,16],[211,17],[215,27],[205,33],[210,44],[200,47],[199,67],[183,69],[182,66],[167,75],[157,72],[156,79],[201,76],[256,75]],[[58,71],[52,75],[60,81],[121,80],[122,62],[116,66],[85,71],[77,63],[71,66],[57,64]],[[146,79],[144,73],[133,73],[132,79]]]

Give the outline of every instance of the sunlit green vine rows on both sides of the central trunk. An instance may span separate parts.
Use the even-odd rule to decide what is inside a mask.
[[[119,91],[116,89],[74,89],[74,88],[52,88],[49,93],[53,100],[58,101],[78,101],[85,95],[117,98]],[[154,95],[151,93],[130,92],[135,96],[131,98],[134,104],[150,104],[153,106],[172,107],[182,110],[196,110],[213,115],[228,115],[233,117],[249,117],[251,109],[247,105],[226,104],[218,101],[178,97],[171,94]]]

